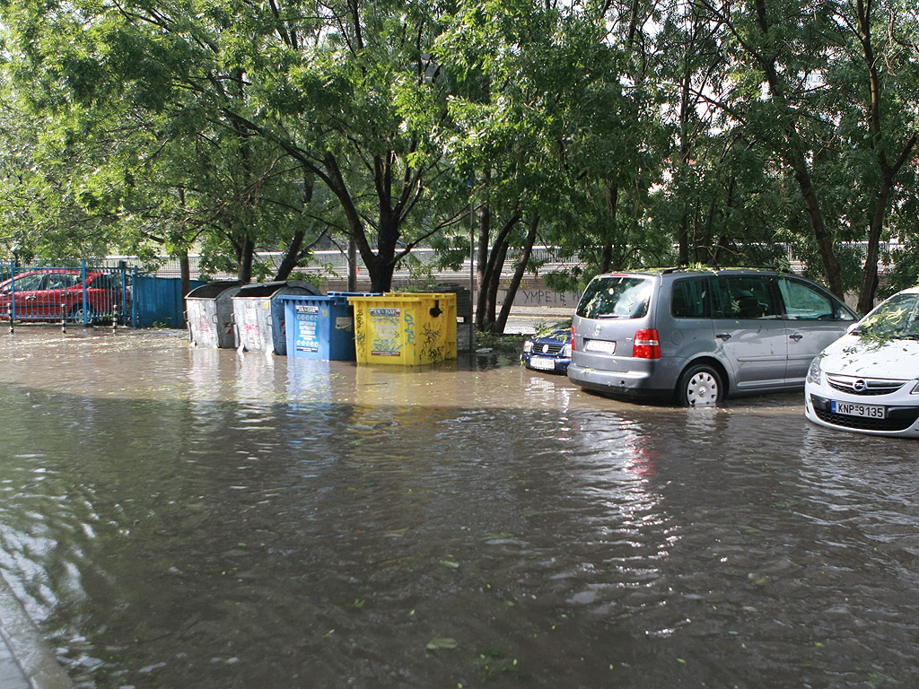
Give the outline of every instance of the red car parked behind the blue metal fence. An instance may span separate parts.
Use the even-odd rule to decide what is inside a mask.
[[[94,322],[121,312],[117,277],[76,268],[33,270],[0,282],[0,320]]]

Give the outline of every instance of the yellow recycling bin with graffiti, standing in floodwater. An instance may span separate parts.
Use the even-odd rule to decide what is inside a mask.
[[[348,297],[358,364],[417,366],[457,357],[457,298],[448,292]]]

